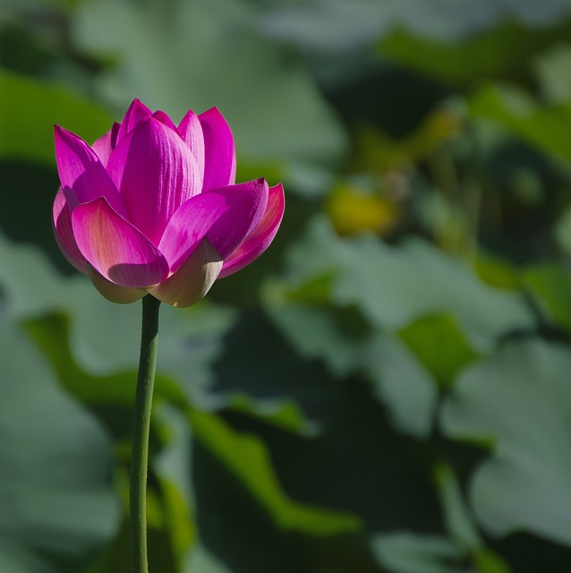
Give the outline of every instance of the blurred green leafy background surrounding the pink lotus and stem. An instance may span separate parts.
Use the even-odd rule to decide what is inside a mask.
[[[163,307],[153,573],[571,567],[567,0],[4,0],[0,571],[129,570],[140,304],[57,251],[52,125],[217,106],[277,238]]]

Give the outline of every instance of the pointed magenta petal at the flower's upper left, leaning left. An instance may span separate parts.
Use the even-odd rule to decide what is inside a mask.
[[[95,151],[81,137],[59,125],[55,125],[54,136],[55,159],[62,187],[70,187],[80,203],[105,197],[113,209],[124,214],[119,192]],[[70,204],[72,210],[74,207]]]

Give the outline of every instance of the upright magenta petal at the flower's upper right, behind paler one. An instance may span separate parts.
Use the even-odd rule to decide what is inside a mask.
[[[226,119],[212,107],[199,115],[204,134],[204,183],[202,190],[234,184],[236,180],[236,150],[234,136]]]

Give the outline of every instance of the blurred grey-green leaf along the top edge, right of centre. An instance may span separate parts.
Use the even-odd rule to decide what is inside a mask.
[[[309,0],[285,3],[268,12],[268,30],[304,47],[335,52],[360,47],[391,30],[407,30],[421,38],[466,38],[490,30],[499,22],[516,19],[529,26],[558,22],[569,13],[565,0],[538,5],[533,0],[487,2],[479,0]],[[501,52],[509,47],[502,46]],[[453,52],[449,56],[454,56]],[[501,55],[500,55],[501,56]],[[422,53],[419,54],[422,57]],[[425,56],[430,60],[430,57]],[[436,65],[447,65],[437,62]]]

